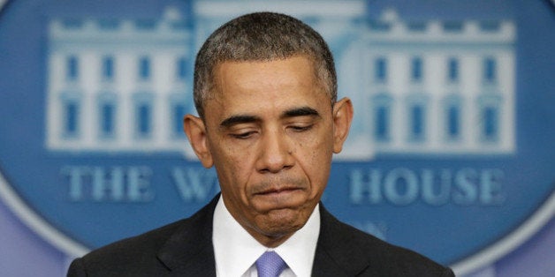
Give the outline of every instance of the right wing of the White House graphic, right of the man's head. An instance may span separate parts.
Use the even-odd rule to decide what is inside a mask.
[[[341,78],[362,92],[354,144],[375,153],[513,153],[514,37],[512,21],[405,22],[384,11],[339,69],[350,68]]]

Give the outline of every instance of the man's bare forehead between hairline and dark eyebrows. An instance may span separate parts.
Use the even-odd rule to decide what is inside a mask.
[[[330,97],[319,85],[313,63],[303,56],[224,62],[214,71],[214,85],[212,98],[204,105],[204,117],[212,124],[232,116],[283,118],[295,109],[331,113]]]

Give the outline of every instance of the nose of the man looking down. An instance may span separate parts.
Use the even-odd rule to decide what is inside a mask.
[[[284,131],[265,131],[259,153],[257,170],[261,173],[278,173],[294,165],[293,144]]]

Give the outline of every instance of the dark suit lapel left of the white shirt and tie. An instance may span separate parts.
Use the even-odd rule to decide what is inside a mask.
[[[219,194],[186,220],[158,251],[170,276],[216,276],[212,218]]]

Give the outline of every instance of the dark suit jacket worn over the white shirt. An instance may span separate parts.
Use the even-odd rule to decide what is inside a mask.
[[[73,260],[68,276],[216,276],[209,205],[188,219]],[[453,276],[429,258],[352,228],[320,205],[313,276]]]

